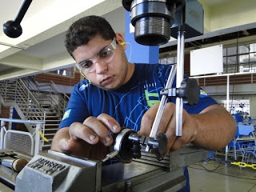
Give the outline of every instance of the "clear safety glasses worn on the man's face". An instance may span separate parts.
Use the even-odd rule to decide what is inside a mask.
[[[99,62],[104,64],[106,62],[110,62],[110,60],[114,56],[114,50],[116,50],[116,40],[115,38],[110,43],[109,46],[102,48],[102,50],[98,51],[95,54],[94,58],[83,60],[82,62],[77,62],[76,66],[79,70],[82,70],[83,73],[91,73],[95,70],[95,62]]]

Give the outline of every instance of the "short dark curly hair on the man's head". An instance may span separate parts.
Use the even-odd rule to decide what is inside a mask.
[[[112,26],[105,18],[95,15],[80,18],[66,32],[66,50],[73,57],[73,52],[78,46],[86,45],[98,34],[105,40],[112,40],[115,36]]]

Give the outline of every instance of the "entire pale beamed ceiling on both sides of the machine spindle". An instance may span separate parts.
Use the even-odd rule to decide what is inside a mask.
[[[13,20],[22,2],[22,0],[2,1],[0,23]],[[124,34],[126,10],[122,7],[122,1],[88,2],[86,0],[32,1],[21,22],[23,33],[20,37],[8,38],[2,30],[0,31],[0,81],[74,66],[74,60],[64,47],[64,36],[71,23],[82,16],[102,15],[115,31]],[[242,3],[240,0],[199,0],[199,2],[202,2],[205,12],[205,34],[186,39],[186,42],[202,42],[202,39],[256,28],[254,22],[256,1]],[[175,45],[177,40],[170,39],[170,42],[160,48]]]

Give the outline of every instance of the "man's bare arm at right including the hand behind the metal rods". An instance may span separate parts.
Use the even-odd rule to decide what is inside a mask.
[[[157,109],[158,104],[146,111],[139,134],[150,135],[149,127],[153,125]],[[226,146],[236,133],[234,118],[218,104],[206,107],[200,114],[188,114],[183,110],[182,136],[176,136],[175,127],[175,104],[168,102],[162,114],[158,133],[166,134],[167,149],[170,151],[178,150],[190,142],[206,150],[219,150]]]

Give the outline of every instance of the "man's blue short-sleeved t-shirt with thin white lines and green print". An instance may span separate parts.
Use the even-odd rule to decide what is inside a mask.
[[[120,126],[135,131],[140,130],[141,120],[146,110],[160,102],[160,90],[166,86],[171,66],[161,64],[135,64],[134,74],[125,85],[117,90],[101,90],[88,80],[78,82],[70,97],[70,102],[59,128],[70,126],[73,122],[84,122],[89,116],[109,114]],[[173,87],[176,87],[174,78]],[[175,102],[176,98],[168,99]],[[207,106],[216,104],[201,89],[199,102],[196,105],[183,105],[189,114],[198,114]],[[190,191],[189,174],[184,168],[186,186],[180,191]]]

